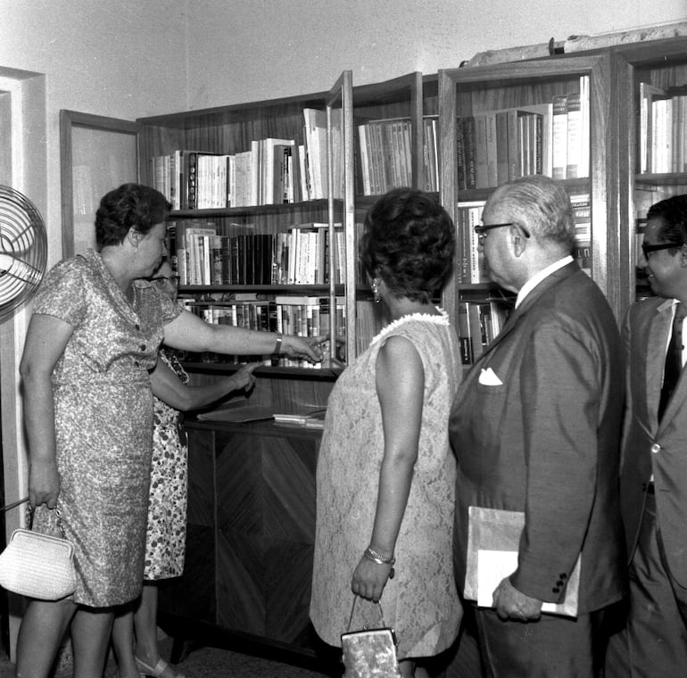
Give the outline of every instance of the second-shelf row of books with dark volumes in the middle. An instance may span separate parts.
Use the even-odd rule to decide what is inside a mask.
[[[168,234],[180,285],[328,285],[331,270],[335,284],[343,283],[340,224],[334,246],[328,225],[317,222],[264,234],[250,226],[187,219],[171,222]]]

